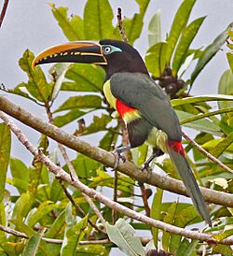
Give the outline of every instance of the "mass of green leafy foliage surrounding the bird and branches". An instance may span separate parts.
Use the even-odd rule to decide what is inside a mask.
[[[123,26],[133,44],[142,33],[144,15],[148,7],[148,0],[137,0],[139,12],[132,18],[125,18]],[[195,0],[185,0],[178,8],[171,25],[171,31],[165,41],[161,41],[160,12],[158,11],[149,23],[150,47],[145,55],[145,63],[153,78],[171,96],[171,105],[175,108],[178,117],[185,126],[197,132],[195,141],[222,163],[233,168],[233,57],[231,24],[221,32],[205,49],[192,49],[192,41],[198,35],[205,17],[189,22],[190,13]],[[67,7],[49,5],[52,14],[62,33],[68,40],[99,40],[104,37],[120,39],[117,25],[113,24],[114,11],[107,0],[88,0],[84,8],[83,17],[68,16]],[[227,33],[226,33],[227,31]],[[212,60],[212,57],[230,38],[227,47],[229,52],[226,58],[230,69],[226,70],[219,81],[218,92],[214,95],[191,96],[187,88],[195,86],[195,79],[203,68]],[[224,54],[223,52],[220,54]],[[17,85],[14,90],[7,92],[21,95],[47,111],[51,110],[58,93],[67,96],[59,107],[52,108],[53,121],[59,127],[72,123],[75,135],[96,135],[99,147],[110,150],[112,145],[121,141],[119,122],[112,121],[113,109],[106,104],[103,96],[104,72],[101,67],[87,64],[55,64],[49,70],[49,76],[44,74],[41,67],[32,69],[31,63],[34,53],[25,50],[19,62],[21,69],[27,74],[28,81]],[[196,62],[191,76],[188,65]],[[50,78],[50,80],[49,80]],[[188,97],[186,97],[188,96]],[[212,111],[207,101],[217,101],[218,109]],[[92,117],[89,124],[86,125]],[[77,121],[77,124],[74,123]],[[30,239],[21,239],[15,235],[0,232],[0,251],[3,255],[108,255],[111,247],[117,245],[129,255],[144,255],[144,247],[139,237],[134,235],[137,230],[149,230],[149,227],[134,220],[118,219],[112,223],[112,209],[94,201],[103,214],[106,231],[109,239],[106,245],[86,244],[82,241],[101,240],[106,238],[103,232],[95,230],[88,220],[91,220],[100,229],[101,221],[89,207],[83,194],[74,191],[72,187],[63,184],[71,193],[84,215],[75,209],[62,190],[60,182],[54,178],[45,165],[36,159],[30,166],[26,166],[20,159],[10,157],[10,133],[7,125],[0,123],[0,224],[9,226],[28,235]],[[48,138],[41,135],[38,146],[44,153],[55,154],[48,149]],[[210,162],[198,149],[190,145],[186,151],[193,153],[189,159],[193,166],[199,184],[215,188],[219,191],[232,192],[232,175],[221,169],[217,164]],[[149,150],[142,146],[133,151],[135,163],[143,164]],[[55,157],[56,159],[56,157]],[[77,153],[72,160],[78,178],[95,190],[113,191],[115,180],[112,174],[105,172],[103,166],[88,156]],[[178,178],[171,169],[170,160],[164,164],[156,163],[171,177]],[[7,175],[7,166],[10,176]],[[67,172],[66,165],[62,166]],[[221,180],[219,179],[221,178]],[[221,181],[221,182],[220,182]],[[16,195],[6,188],[6,183],[17,190]],[[118,175],[117,195],[118,202],[129,206],[135,211],[142,211],[142,195],[137,189],[137,183],[123,175]],[[157,189],[151,206],[151,217],[167,223],[186,227],[199,223],[201,220],[190,204],[179,202],[164,203],[163,191]],[[9,203],[7,203],[7,201]],[[6,206],[6,207],[5,207]],[[210,206],[212,220],[216,225],[209,231],[217,231],[223,239],[232,235],[232,210],[224,206]],[[118,218],[124,218],[118,214]],[[126,219],[126,218],[124,218]],[[149,231],[150,232],[150,231]],[[198,241],[187,240],[181,235],[172,235],[153,228],[152,235],[155,248],[176,255],[197,255],[197,249],[202,249]],[[46,243],[42,236],[53,239],[62,239],[62,243]],[[158,236],[161,237],[159,241]],[[229,246],[205,245],[208,253],[222,253],[232,255]]]

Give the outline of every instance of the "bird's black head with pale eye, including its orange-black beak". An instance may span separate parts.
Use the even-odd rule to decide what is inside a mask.
[[[137,50],[125,42],[110,39],[101,40],[99,43],[70,42],[52,47],[39,53],[32,65],[34,68],[37,64],[48,63],[102,65],[107,78],[118,72],[148,74]]]

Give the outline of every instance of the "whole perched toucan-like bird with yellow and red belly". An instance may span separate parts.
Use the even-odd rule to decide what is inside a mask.
[[[150,77],[139,51],[126,42],[114,39],[75,41],[43,50],[34,58],[32,67],[50,63],[83,63],[103,67],[103,93],[109,105],[125,122],[129,134],[130,144],[118,149],[117,153],[148,143],[153,147],[154,155],[146,164],[155,155],[168,153],[199,216],[211,226],[210,212],[185,157],[179,119],[166,92]]]

